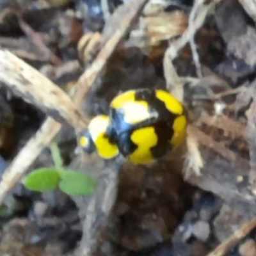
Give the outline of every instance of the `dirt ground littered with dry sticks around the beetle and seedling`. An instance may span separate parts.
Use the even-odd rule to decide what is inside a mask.
[[[256,256],[254,0],[0,1],[0,256]],[[150,166],[77,147],[120,92],[164,88],[188,139]],[[58,143],[90,195],[36,192]]]

